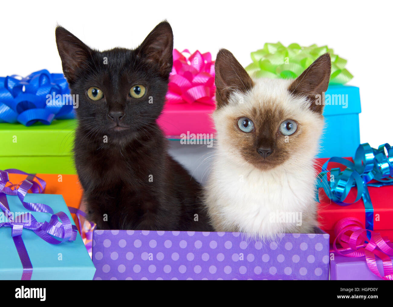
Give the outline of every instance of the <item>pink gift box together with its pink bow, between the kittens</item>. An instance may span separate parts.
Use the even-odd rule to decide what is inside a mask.
[[[209,52],[173,50],[166,102],[157,121],[167,138],[179,139],[187,132],[210,137],[215,133],[211,119],[215,110],[214,76]]]

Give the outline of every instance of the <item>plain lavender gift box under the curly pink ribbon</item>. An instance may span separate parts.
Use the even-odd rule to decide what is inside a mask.
[[[384,266],[382,260],[376,258],[376,267],[383,275]],[[393,261],[393,256],[390,256]],[[331,280],[382,280],[376,276],[367,266],[365,257],[352,258],[334,254],[334,259],[330,261]]]

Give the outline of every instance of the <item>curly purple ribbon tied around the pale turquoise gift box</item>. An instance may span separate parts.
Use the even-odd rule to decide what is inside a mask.
[[[24,180],[18,189],[13,190],[10,187],[6,187],[6,184],[9,182],[8,171],[10,173],[27,174],[29,176],[33,175],[18,171],[16,169],[8,169],[6,171],[0,170],[0,209],[2,209],[8,218],[8,222],[0,223],[0,228],[12,227],[11,236],[14,240],[15,247],[23,266],[22,280],[30,280],[31,274],[33,273],[33,266],[22,240],[23,229],[25,228],[33,231],[42,240],[50,244],[60,244],[65,241],[75,241],[78,230],[75,225],[72,225],[71,220],[68,218],[66,213],[62,211],[54,213],[52,208],[48,205],[45,205],[44,203],[31,203],[24,201],[24,197],[26,196],[26,193],[29,191],[29,189],[33,189],[33,191],[38,191],[38,193],[40,193],[40,191],[44,191],[45,184],[42,188],[39,188],[37,183],[34,185],[28,180]],[[44,180],[40,178],[39,181],[40,183],[41,181],[44,182]],[[6,194],[18,196],[20,202],[22,202],[22,205],[29,211],[52,214],[50,221],[38,222],[31,213],[21,214],[15,217],[14,220],[9,209]],[[59,238],[60,240],[55,239],[53,236]]]

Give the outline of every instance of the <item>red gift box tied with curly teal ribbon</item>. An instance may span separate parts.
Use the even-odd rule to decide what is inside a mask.
[[[352,158],[345,158],[353,162]],[[321,172],[322,165],[329,159],[316,159],[316,170]],[[328,169],[340,168],[343,171],[343,165],[340,163],[329,163]],[[368,187],[371,202],[374,208],[374,231],[381,234],[382,237],[387,236],[393,241],[393,185],[384,187]],[[349,192],[345,202],[352,202],[356,199],[356,187]],[[318,205],[318,223],[320,228],[330,234],[331,243],[334,240],[334,225],[346,217],[354,217],[365,224],[365,208],[363,200],[347,206],[341,206],[329,199],[323,189],[319,189]]]

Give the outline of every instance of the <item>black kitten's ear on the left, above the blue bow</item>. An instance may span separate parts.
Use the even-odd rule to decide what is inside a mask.
[[[64,76],[69,83],[73,83],[78,69],[83,65],[88,65],[91,49],[63,27],[57,26],[55,33]]]

